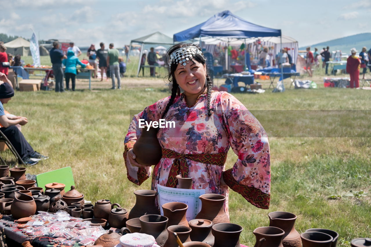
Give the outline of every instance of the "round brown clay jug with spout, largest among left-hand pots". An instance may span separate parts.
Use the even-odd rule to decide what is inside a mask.
[[[14,219],[18,220],[36,213],[36,203],[32,197],[18,191],[14,192],[14,197],[14,201],[10,208]]]

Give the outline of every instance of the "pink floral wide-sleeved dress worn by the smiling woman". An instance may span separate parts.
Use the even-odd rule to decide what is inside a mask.
[[[135,115],[125,137],[124,159],[128,179],[140,185],[152,173],[152,190],[157,190],[157,184],[166,186],[174,158],[161,158],[153,169],[138,168],[130,164],[126,153],[144,131],[138,128],[139,119],[159,121],[169,99],[170,96],[161,99]],[[238,159],[233,168],[226,171],[224,165],[185,159],[188,177],[193,179],[192,188],[225,195],[224,209],[229,215],[228,188],[220,186],[223,174],[229,188],[256,207],[269,208],[270,158],[265,130],[242,103],[227,92],[213,91],[210,108],[212,115],[209,117],[206,93],[201,94],[193,106],[187,106],[184,93],[176,96],[164,117],[166,121],[175,121],[175,128],[159,129],[157,138],[161,147],[182,155],[227,153],[231,147]]]

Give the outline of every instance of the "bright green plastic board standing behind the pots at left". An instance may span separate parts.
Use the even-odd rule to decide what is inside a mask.
[[[36,175],[36,182],[37,186],[42,188],[45,188],[46,184],[53,182],[62,183],[66,185],[65,191],[69,191],[72,185],[75,186],[71,167],[63,167],[54,171],[38,174]]]

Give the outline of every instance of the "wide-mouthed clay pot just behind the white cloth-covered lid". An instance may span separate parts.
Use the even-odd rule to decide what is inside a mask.
[[[139,220],[141,224],[139,233],[152,235],[157,244],[163,247],[168,238],[166,230],[168,218],[162,215],[148,214],[139,217]]]

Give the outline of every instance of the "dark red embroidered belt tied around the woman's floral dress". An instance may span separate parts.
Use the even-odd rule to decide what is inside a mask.
[[[162,158],[174,158],[166,187],[175,188],[178,184],[178,179],[176,178],[177,175],[181,174],[183,178],[188,178],[187,159],[211,165],[224,165],[227,159],[227,153],[179,154],[170,149],[162,149]]]

